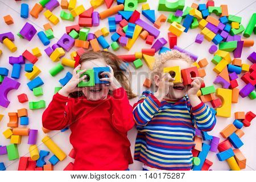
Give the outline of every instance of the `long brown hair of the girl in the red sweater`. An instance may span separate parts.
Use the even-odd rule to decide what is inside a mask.
[[[131,89],[130,81],[125,74],[126,71],[121,69],[121,65],[123,61],[118,56],[108,51],[98,51],[98,52],[93,52],[92,50],[86,51],[80,56],[79,64],[82,64],[85,61],[95,60],[95,59],[103,59],[106,61],[106,64],[110,65],[110,67],[113,68],[114,77],[117,78],[118,82],[122,85],[123,89],[126,90],[126,93],[129,99],[136,97],[136,95],[133,93]],[[128,70],[127,72],[130,75],[130,72]],[[70,94],[71,97],[80,97],[83,95],[84,93],[82,93],[82,91],[73,92]]]

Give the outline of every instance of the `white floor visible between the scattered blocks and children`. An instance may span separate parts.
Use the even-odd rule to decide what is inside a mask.
[[[0,122],[0,133],[2,133],[3,131],[5,131],[7,129],[7,123],[9,122],[8,112],[16,112],[17,109],[21,109],[23,107],[28,109],[28,102],[26,102],[24,104],[20,104],[18,102],[18,98],[16,97],[16,96],[18,96],[18,94],[26,93],[28,96],[28,99],[30,101],[45,100],[48,105],[49,102],[52,100],[52,96],[54,93],[54,87],[61,86],[59,84],[58,80],[60,78],[63,78],[67,71],[72,72],[71,68],[65,67],[64,71],[62,71],[55,77],[52,77],[51,75],[49,75],[48,71],[54,65],[56,65],[56,63],[53,63],[51,61],[51,59],[49,59],[49,57],[43,51],[46,48],[46,46],[43,46],[43,44],[42,44],[42,42],[40,42],[38,36],[35,35],[34,38],[30,42],[28,42],[25,39],[22,40],[18,36],[16,36],[16,33],[23,27],[23,25],[26,22],[32,23],[34,25],[34,27],[36,28],[36,30],[38,30],[38,32],[44,30],[43,24],[48,23],[48,20],[44,17],[43,12],[40,13],[38,19],[33,18],[31,15],[28,17],[28,19],[23,19],[23,18],[20,18],[20,15],[19,15],[20,3],[28,3],[30,10],[31,10],[36,2],[37,1],[15,2],[14,0],[11,0],[11,1],[0,0],[0,7],[1,7],[0,34],[2,34],[4,32],[9,32],[9,31],[13,32],[13,34],[15,35],[14,43],[18,47],[18,50],[16,52],[11,53],[9,51],[9,49],[7,49],[5,46],[3,46],[3,44],[0,44],[0,49],[2,49],[2,51],[3,51],[3,54],[0,57],[0,67],[8,68],[9,69],[9,77],[10,77],[12,67],[9,64],[9,56],[19,56],[23,53],[23,51],[25,49],[28,49],[28,51],[31,51],[32,48],[39,47],[43,55],[39,57],[39,60],[36,63],[36,66],[39,67],[40,70],[42,71],[42,73],[40,73],[39,76],[44,81],[44,85],[43,85],[44,95],[40,96],[40,97],[35,97],[33,95],[33,93],[31,92],[31,90],[29,90],[26,85],[29,80],[24,76],[24,73],[25,73],[24,65],[22,65],[22,72],[21,72],[20,78],[18,80],[21,83],[21,85],[19,86],[19,89],[12,90],[11,92],[9,92],[8,98],[11,101],[11,104],[9,105],[8,108],[0,107],[0,114],[5,115],[2,119],[2,121]],[[191,6],[192,2],[206,3],[207,1],[186,1],[185,5]],[[168,16],[170,14],[168,12],[158,12],[157,11],[158,1],[148,0],[148,3],[150,4],[151,9],[156,10],[156,13],[155,13],[156,18],[162,13],[166,16]],[[79,1],[78,0],[77,5],[81,5],[81,4],[84,5],[85,9],[88,9],[90,7],[89,1]],[[253,1],[253,0],[215,1],[216,6],[220,6],[221,4],[228,5],[229,14],[241,16],[242,24],[245,27],[247,26],[250,16],[253,13],[255,13],[255,1]],[[116,5],[115,2],[114,2],[114,5]],[[141,5],[142,4],[139,4],[137,10],[141,11]],[[102,10],[105,10],[105,9],[106,9],[106,6],[102,5],[101,7],[96,9],[96,11],[101,12]],[[44,9],[43,11],[45,11],[45,10],[46,9]],[[53,10],[53,14],[59,16],[60,11],[61,11],[61,7],[59,6],[55,10]],[[65,10],[65,11],[67,11],[67,10]],[[3,18],[2,18],[3,16],[8,15],[8,14],[10,14],[14,19],[14,24],[11,24],[10,26],[7,26],[7,24],[5,24],[5,22],[3,21]],[[141,17],[142,17],[142,19],[146,20],[146,18],[143,15],[141,15]],[[146,21],[149,22],[148,20],[146,20]],[[56,26],[54,26],[52,24],[55,39],[51,39],[50,45],[56,43],[57,40],[60,39],[60,37],[65,33],[66,26],[75,25],[75,24],[77,24],[77,22],[78,22],[78,17],[75,18],[75,22],[69,22],[69,21],[60,19],[60,22]],[[166,40],[168,40],[167,32],[168,32],[169,26],[170,26],[170,23],[167,23],[167,22],[162,25],[162,27],[160,28],[161,33],[159,35],[159,38],[164,37]],[[90,32],[94,32],[102,27],[108,27],[107,19],[101,20],[100,26],[92,27]],[[209,42],[207,42],[207,40],[204,40],[204,42],[202,44],[195,43],[194,42],[195,37],[199,32],[200,32],[200,28],[196,28],[193,30],[189,29],[187,34],[183,33],[178,38],[177,46],[186,48],[188,51],[195,53],[196,55],[199,56],[199,60],[203,59],[204,57],[207,57],[208,61],[210,61],[212,59],[213,55],[210,55],[210,53],[208,52],[208,49],[213,43],[212,42],[209,43]],[[106,37],[106,39],[108,40],[109,43],[111,42],[110,35],[108,37]],[[255,35],[252,35],[250,37],[250,39],[255,40]],[[117,51],[115,53],[117,55],[118,54],[119,55],[133,54],[135,51],[141,51],[141,48],[150,48],[150,47],[151,47],[150,45],[145,44],[144,40],[142,40],[141,38],[138,38],[137,42],[134,44],[133,48],[130,51],[127,51],[126,49],[121,48],[121,49],[119,49],[119,51]],[[168,47],[168,44],[166,44],[166,47]],[[74,47],[73,50],[76,50],[76,48]],[[242,62],[243,63],[251,64],[250,61],[246,59],[246,57],[253,51],[255,51],[255,46],[249,47],[249,48],[243,48],[243,53],[242,53]],[[231,55],[232,55],[232,53],[231,53]],[[70,54],[66,53],[65,57],[70,58]],[[216,77],[216,73],[214,73],[212,71],[213,67],[214,67],[214,64],[210,63],[206,68],[207,76],[205,76],[204,79],[205,79],[205,84],[207,86],[212,85],[213,80]],[[138,95],[140,95],[143,92],[143,90],[145,90],[145,88],[143,88],[142,85],[143,85],[144,78],[147,76],[147,73],[149,72],[147,65],[144,64],[142,68],[135,70],[133,65],[130,64],[129,68],[130,68],[130,71],[133,73],[131,82],[132,82],[134,93],[137,93]],[[245,83],[242,82],[240,79],[238,79],[238,83],[239,83],[238,88],[240,88],[240,89],[245,85]],[[214,86],[217,88],[219,85],[214,85]],[[137,100],[138,100],[138,98],[134,98],[133,100],[130,101],[130,104],[133,105]],[[233,120],[234,120],[233,113],[236,111],[245,111],[246,112],[246,111],[250,111],[250,110],[254,111],[254,113],[255,113],[255,111],[256,111],[255,110],[255,101],[250,100],[250,98],[248,98],[248,97],[246,97],[246,98],[240,97],[238,104],[232,105],[232,116],[230,118],[217,117],[217,124],[214,127],[213,131],[211,131],[209,134],[214,135],[216,137],[220,137],[221,141],[222,141],[223,138],[221,137],[221,135],[219,133],[229,123],[233,122]],[[46,146],[44,146],[44,144],[42,144],[42,142],[41,142],[42,138],[46,135],[43,133],[43,131],[41,129],[42,128],[42,113],[43,113],[43,109],[28,110],[28,116],[30,118],[30,124],[28,125],[28,127],[30,127],[30,129],[38,129],[39,130],[39,135],[38,135],[38,140],[37,140],[37,145],[38,145],[39,150],[48,150],[48,148]],[[255,124],[255,121],[251,122],[250,127],[243,127],[242,130],[245,132],[245,135],[242,137],[242,141],[243,141],[244,145],[240,148],[240,150],[247,158],[246,170],[255,170],[256,169],[256,158],[255,158],[256,124]],[[69,143],[70,130],[65,131],[64,133],[60,133],[60,131],[51,131],[50,133],[48,133],[48,135],[50,137],[52,137],[52,139],[60,146],[61,149],[63,149],[63,151],[67,155],[69,154],[69,151],[72,148],[71,144]],[[135,138],[137,135],[137,130],[135,129],[135,127],[131,131],[129,131],[128,135],[129,135],[129,139],[131,142],[131,151],[134,152],[134,143],[135,143]],[[18,145],[20,156],[29,156],[30,155],[28,152],[29,145],[27,144],[27,139],[28,139],[28,137],[22,137],[22,144]],[[3,137],[2,134],[0,134],[0,145],[5,146],[8,144],[10,144],[10,140],[5,139],[5,137]],[[49,163],[48,159],[52,155],[53,154],[50,153],[50,155],[46,157],[45,161],[47,163]],[[207,159],[209,159],[210,161],[213,162],[213,166],[210,167],[210,169],[229,170],[228,164],[226,162],[218,161],[215,153],[210,152]],[[5,166],[7,167],[8,170],[18,169],[18,161],[19,160],[9,161],[7,158],[7,155],[0,156],[0,162],[4,162]],[[56,166],[54,167],[54,169],[62,170],[65,166],[67,166],[67,164],[69,162],[73,162],[73,159],[69,158],[69,156],[68,156],[63,162],[57,163]],[[142,164],[139,162],[136,162],[136,161],[134,162],[134,164],[131,164],[129,166],[129,168],[131,170],[141,170],[141,167],[142,167]]]

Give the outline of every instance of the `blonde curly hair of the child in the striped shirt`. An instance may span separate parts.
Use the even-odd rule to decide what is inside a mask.
[[[155,75],[161,76],[163,72],[163,64],[168,60],[182,59],[187,61],[189,64],[193,63],[193,60],[186,53],[182,53],[173,49],[171,51],[163,52],[160,54],[159,58],[155,60],[154,67],[151,72],[151,80],[154,81]]]

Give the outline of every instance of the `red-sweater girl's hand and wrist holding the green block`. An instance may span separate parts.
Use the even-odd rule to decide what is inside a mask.
[[[61,94],[62,96],[68,97],[69,93],[76,92],[81,89],[81,88],[77,87],[77,84],[79,84],[79,82],[81,82],[82,80],[84,80],[86,78],[86,75],[84,75],[80,78],[82,73],[86,72],[86,69],[84,69],[83,71],[81,71],[79,73],[76,73],[76,71],[79,70],[80,68],[81,68],[81,65],[79,64],[73,70],[72,78],[68,81],[68,83],[65,86],[63,86],[62,89],[59,90],[59,94]]]

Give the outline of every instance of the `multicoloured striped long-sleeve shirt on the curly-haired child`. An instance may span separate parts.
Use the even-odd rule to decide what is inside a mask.
[[[159,102],[144,91],[133,115],[138,130],[134,159],[163,170],[190,170],[195,129],[210,131],[216,124],[210,108],[203,102],[192,107],[187,95]]]

